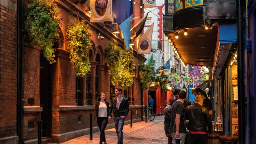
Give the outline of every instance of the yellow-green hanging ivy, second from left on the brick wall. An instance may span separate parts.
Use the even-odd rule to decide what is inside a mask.
[[[75,20],[67,29],[69,59],[73,64],[76,76],[84,77],[90,70],[89,52],[92,48],[92,32],[85,21]]]

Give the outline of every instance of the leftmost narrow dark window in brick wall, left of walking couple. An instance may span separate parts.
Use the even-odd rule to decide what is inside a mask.
[[[76,77],[76,89],[75,89],[76,105],[83,105],[83,78]]]

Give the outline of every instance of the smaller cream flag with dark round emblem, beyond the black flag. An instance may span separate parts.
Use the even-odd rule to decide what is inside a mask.
[[[154,23],[136,40],[138,54],[150,54]]]

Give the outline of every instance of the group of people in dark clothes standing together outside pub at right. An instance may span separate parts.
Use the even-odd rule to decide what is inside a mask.
[[[191,105],[186,100],[186,91],[174,89],[174,98],[169,100],[164,109],[164,130],[171,133],[173,144],[176,144],[175,138],[181,138],[180,143],[185,143],[187,129],[190,133],[190,144],[207,144],[207,132],[211,133],[210,115],[213,114],[213,107],[206,93],[200,88],[195,88],[193,94],[195,104]]]

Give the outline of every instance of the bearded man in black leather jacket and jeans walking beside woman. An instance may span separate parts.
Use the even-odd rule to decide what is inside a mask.
[[[114,123],[116,128],[116,134],[118,138],[117,144],[123,144],[123,124],[124,124],[124,118],[129,113],[129,103],[128,99],[123,97],[122,95],[122,88],[116,87],[115,88],[115,95],[116,97],[112,98],[112,101],[110,103],[109,107],[109,119],[112,118],[112,110],[114,114]]]

